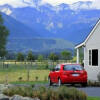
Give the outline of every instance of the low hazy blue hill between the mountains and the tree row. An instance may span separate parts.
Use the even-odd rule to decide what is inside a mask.
[[[43,38],[21,38],[9,39],[7,50],[13,52],[59,52],[62,50],[73,51],[74,44],[63,39],[43,39]]]

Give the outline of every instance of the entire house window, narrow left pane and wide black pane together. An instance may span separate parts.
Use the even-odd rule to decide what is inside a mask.
[[[89,65],[98,66],[98,49],[89,50]]]

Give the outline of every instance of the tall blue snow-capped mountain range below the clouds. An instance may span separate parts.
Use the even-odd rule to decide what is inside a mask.
[[[35,29],[42,37],[63,38],[78,43],[85,39],[100,18],[100,10],[92,8],[93,2],[90,1],[57,6],[42,4],[41,0],[20,1],[16,7],[2,5],[0,11]]]

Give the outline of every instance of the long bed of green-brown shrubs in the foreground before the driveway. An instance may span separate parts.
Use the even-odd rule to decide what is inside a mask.
[[[40,100],[86,100],[87,95],[75,88],[60,87],[58,89],[40,87],[32,89],[32,87],[14,87],[6,89],[3,92],[7,96],[21,95]]]

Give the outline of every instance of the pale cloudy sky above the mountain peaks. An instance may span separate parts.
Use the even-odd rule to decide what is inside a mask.
[[[37,0],[0,0],[0,5],[10,4],[13,7],[23,7],[23,6],[29,6],[28,4],[30,4],[30,6],[34,6],[33,1]],[[57,6],[61,3],[73,4],[78,1],[92,1],[91,8],[100,9],[100,0],[39,0],[39,1],[41,5],[49,3],[53,6]],[[26,4],[25,2],[27,2],[28,4]]]

